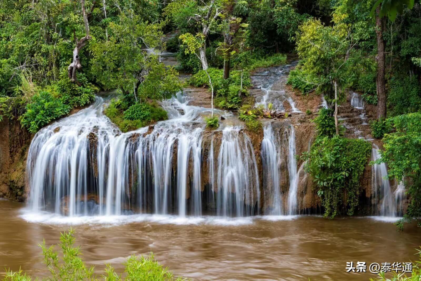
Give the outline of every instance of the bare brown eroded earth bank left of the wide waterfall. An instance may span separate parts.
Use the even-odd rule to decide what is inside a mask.
[[[0,197],[25,201],[25,168],[31,134],[19,121],[4,118],[0,122]]]

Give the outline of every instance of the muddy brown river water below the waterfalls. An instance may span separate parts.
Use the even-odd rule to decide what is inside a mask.
[[[28,222],[24,204],[0,200],[0,268],[45,276],[40,248],[56,244],[68,225]],[[176,225],[132,222],[73,226],[83,260],[102,274],[106,263],[123,272],[131,254],[149,254],[175,275],[193,280],[368,280],[346,273],[347,261],[415,261],[421,245],[415,225],[398,232],[391,222],[346,217],[299,216],[290,220],[245,219],[243,225]],[[367,270],[368,271],[368,270]],[[0,273],[0,278],[4,273]]]

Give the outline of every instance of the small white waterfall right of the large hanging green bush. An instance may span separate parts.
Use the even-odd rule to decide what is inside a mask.
[[[380,158],[378,147],[373,144],[371,161]],[[383,217],[396,217],[396,205],[387,175],[386,163],[374,164],[371,168],[371,186],[373,188],[373,204],[376,213]],[[380,206],[378,206],[380,204]]]

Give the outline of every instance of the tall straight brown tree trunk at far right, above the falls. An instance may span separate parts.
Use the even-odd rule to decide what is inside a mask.
[[[377,118],[386,118],[386,81],[385,72],[385,53],[384,53],[384,18],[380,18],[378,13],[380,5],[376,8],[376,35],[377,35]]]

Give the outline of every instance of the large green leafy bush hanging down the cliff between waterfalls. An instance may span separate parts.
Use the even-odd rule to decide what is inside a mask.
[[[319,188],[324,216],[334,218],[341,205],[348,215],[354,214],[360,195],[360,178],[370,156],[371,145],[362,139],[338,135],[317,136],[307,160],[306,170]],[[344,200],[344,198],[346,198]]]

